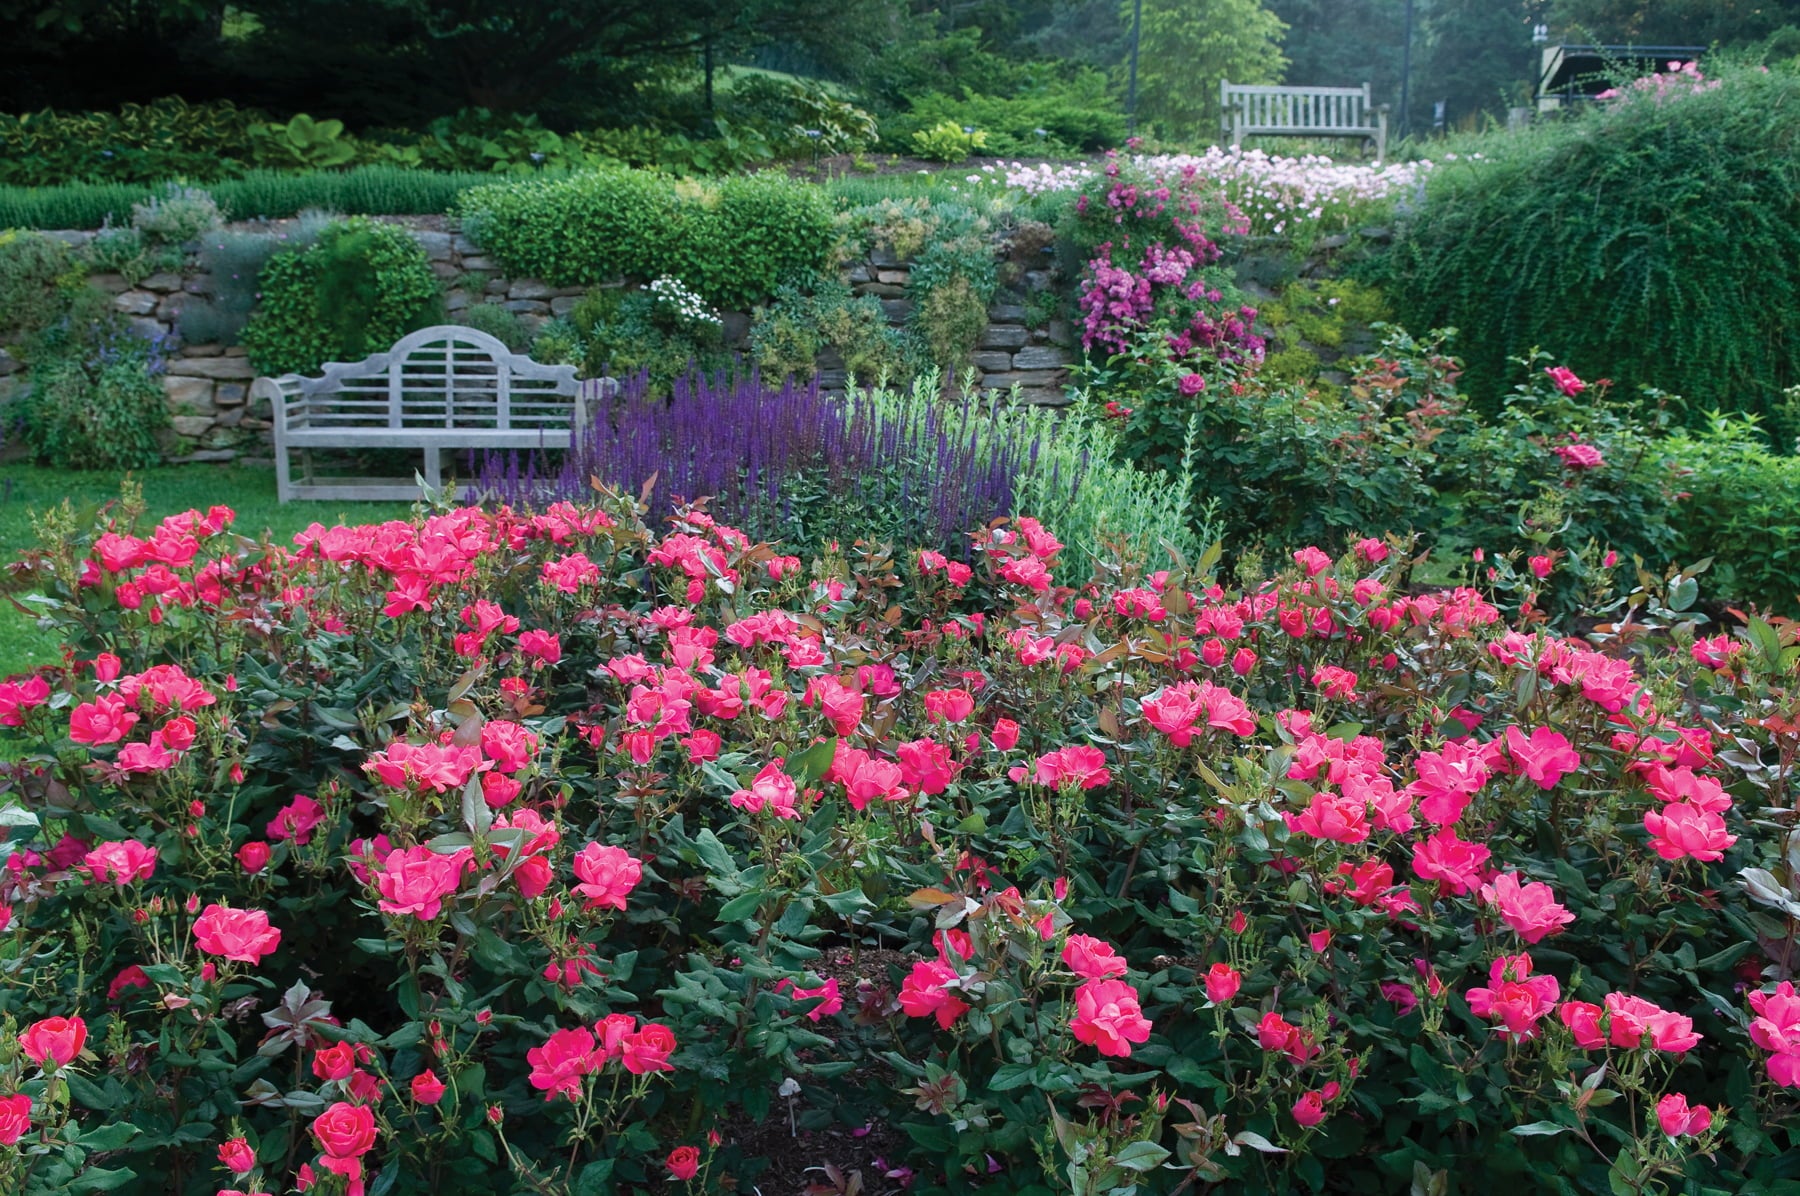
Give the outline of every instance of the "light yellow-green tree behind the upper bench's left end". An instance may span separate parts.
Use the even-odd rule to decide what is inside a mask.
[[[1127,13],[1132,2],[1123,0]],[[1260,0],[1143,0],[1139,115],[1165,137],[1213,139],[1219,81],[1278,81],[1282,32]]]

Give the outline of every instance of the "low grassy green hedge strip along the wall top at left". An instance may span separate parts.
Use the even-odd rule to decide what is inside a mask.
[[[207,184],[207,191],[227,220],[283,220],[310,207],[344,216],[419,216],[446,213],[457,195],[488,182],[493,175],[475,171],[360,166],[311,175],[250,171]],[[0,229],[99,229],[108,216],[130,223],[131,205],[157,191],[139,184],[0,187]]]

